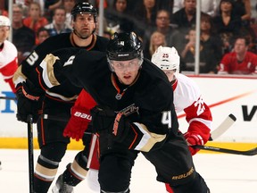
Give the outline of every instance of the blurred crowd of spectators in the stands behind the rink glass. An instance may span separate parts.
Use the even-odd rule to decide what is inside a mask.
[[[196,1],[200,0],[103,0],[104,20],[97,24],[103,27],[107,38],[116,31],[135,31],[148,59],[158,46],[175,46],[181,57],[181,71],[195,71]],[[78,2],[14,0],[12,13],[8,13],[10,2],[0,0],[0,14],[12,14],[11,38],[18,49],[19,63],[46,38],[72,31],[70,11]],[[99,9],[102,1],[84,2]],[[235,51],[238,38],[245,40],[245,46],[237,42],[243,47],[241,52],[245,49],[256,58],[256,0],[202,0],[199,72],[217,73],[223,57]]]

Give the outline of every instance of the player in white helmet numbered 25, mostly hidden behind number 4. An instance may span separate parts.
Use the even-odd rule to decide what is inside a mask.
[[[175,47],[159,46],[152,56],[152,63],[165,72],[173,88],[176,113],[184,111],[188,122],[184,137],[192,155],[199,149],[194,145],[204,145],[210,138],[212,116],[208,105],[203,101],[200,89],[195,82],[179,73],[180,57]],[[166,183],[168,192],[173,192]]]

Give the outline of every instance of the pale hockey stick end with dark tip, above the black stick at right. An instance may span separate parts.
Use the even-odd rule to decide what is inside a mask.
[[[236,116],[232,113],[228,115],[228,117],[220,123],[219,127],[216,130],[211,132],[211,137],[209,141],[220,138],[220,136],[225,133],[234,123],[236,122]]]

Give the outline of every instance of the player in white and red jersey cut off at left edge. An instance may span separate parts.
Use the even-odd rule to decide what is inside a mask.
[[[12,82],[14,72],[18,68],[18,51],[12,42],[8,41],[11,28],[9,18],[0,15],[0,73],[15,93],[15,87]]]

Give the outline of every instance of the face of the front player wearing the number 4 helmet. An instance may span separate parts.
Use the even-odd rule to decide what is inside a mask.
[[[130,85],[136,80],[140,65],[139,60],[135,58],[129,61],[112,61],[112,67],[120,82]]]

